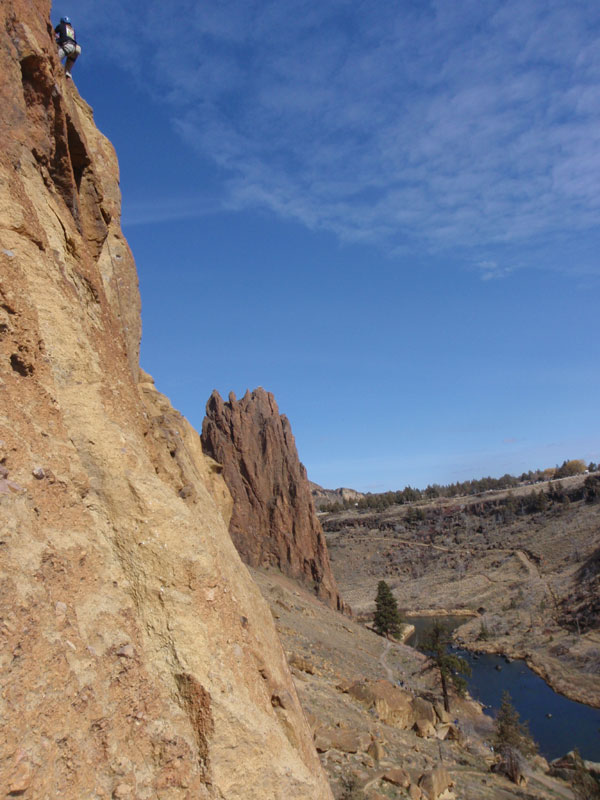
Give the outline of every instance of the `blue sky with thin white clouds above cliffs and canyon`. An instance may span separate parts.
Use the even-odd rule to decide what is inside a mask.
[[[272,391],[309,477],[600,460],[600,15],[585,0],[78,0],[142,365]]]

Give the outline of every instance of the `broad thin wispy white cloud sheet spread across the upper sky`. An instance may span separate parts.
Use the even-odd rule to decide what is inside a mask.
[[[80,6],[106,26],[105,54],[143,74],[181,136],[225,170],[229,208],[390,249],[476,247],[486,279],[523,266],[523,245],[598,231],[593,4]]]

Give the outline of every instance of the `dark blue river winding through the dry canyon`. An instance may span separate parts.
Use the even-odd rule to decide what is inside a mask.
[[[418,646],[419,637],[422,638],[434,621],[433,617],[407,618],[416,628],[407,644]],[[452,627],[464,621],[464,617],[440,618],[440,622]],[[558,758],[577,747],[583,758],[600,761],[600,709],[557,694],[524,661],[507,663],[503,656],[474,655],[466,650],[455,652],[471,667],[472,674],[467,679],[471,696],[495,714],[502,693],[508,691],[519,716],[529,723],[543,756]]]

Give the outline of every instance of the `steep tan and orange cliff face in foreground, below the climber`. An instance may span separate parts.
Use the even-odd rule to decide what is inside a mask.
[[[331,800],[219,467],[138,384],[116,158],[49,13],[0,6],[1,785]]]

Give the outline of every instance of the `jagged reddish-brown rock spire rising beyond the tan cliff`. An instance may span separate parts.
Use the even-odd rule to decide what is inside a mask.
[[[276,566],[343,610],[306,470],[273,395],[259,388],[239,401],[232,392],[224,402],[213,392],[202,446],[223,465],[233,496],[229,530],[244,561],[252,567]]]

